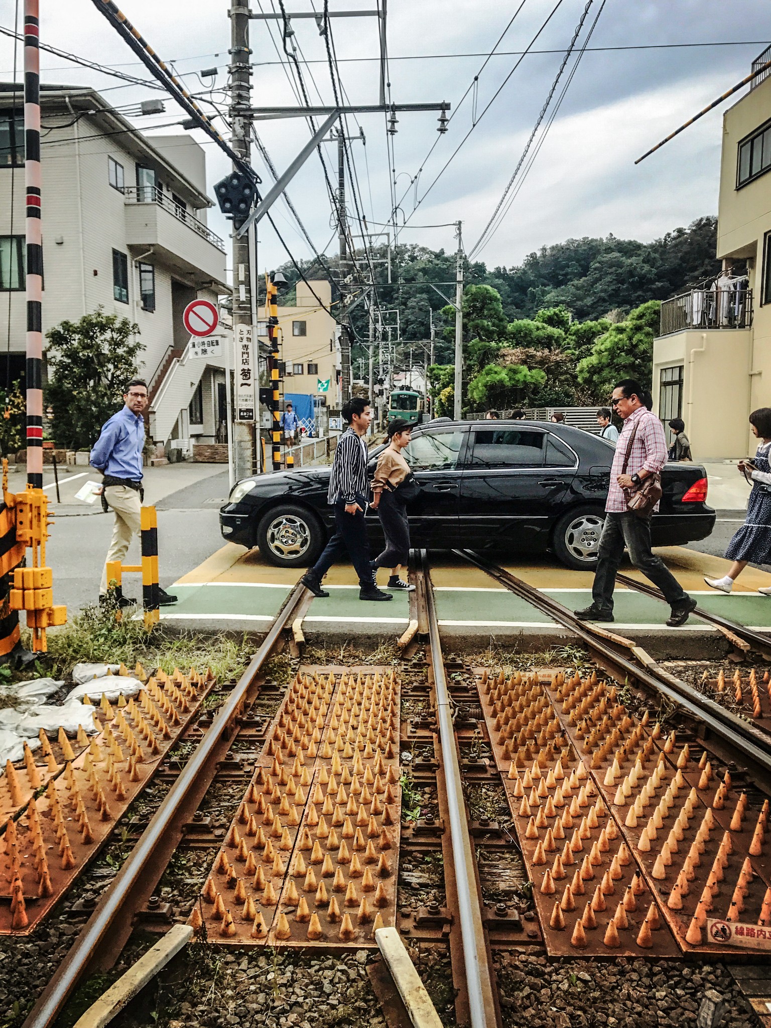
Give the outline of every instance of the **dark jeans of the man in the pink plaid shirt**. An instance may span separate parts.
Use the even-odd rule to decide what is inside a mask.
[[[664,593],[670,607],[684,603],[688,593],[668,570],[661,557],[651,552],[651,519],[637,517],[632,511],[610,511],[599,538],[597,570],[594,572],[592,600],[602,612],[613,611],[613,590],[616,572],[621,566],[624,548],[635,567],[650,578]]]

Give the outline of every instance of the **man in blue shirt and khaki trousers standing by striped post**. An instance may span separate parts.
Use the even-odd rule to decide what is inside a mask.
[[[111,560],[121,563],[128,552],[134,536],[140,533],[141,508],[144,499],[142,488],[142,450],[145,445],[145,421],[142,413],[147,406],[147,382],[144,378],[132,378],[123,394],[125,406],[102,426],[102,433],[90,453],[89,464],[102,472],[102,506],[107,513],[111,508],[115,514],[112,542],[107,551],[102,584],[99,587],[100,602],[107,601],[107,564]],[[161,604],[176,603],[177,597],[170,596],[158,587]],[[119,607],[127,607],[133,600],[126,599],[120,589],[115,590],[114,599]]]

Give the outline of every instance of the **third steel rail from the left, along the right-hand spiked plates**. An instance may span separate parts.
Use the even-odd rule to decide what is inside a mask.
[[[762,767],[765,771],[771,772],[771,743],[768,736],[764,736],[752,725],[747,724],[741,718],[725,707],[714,703],[703,696],[697,690],[675,678],[662,668],[656,667],[655,672],[651,665],[646,668],[632,664],[626,657],[622,656],[612,647],[603,642],[586,628],[581,621],[576,618],[572,611],[563,607],[562,603],[545,596],[538,589],[522,582],[511,572],[493,564],[480,557],[473,550],[453,550],[456,556],[463,557],[469,563],[475,564],[493,578],[501,585],[516,593],[522,599],[527,600],[538,610],[548,615],[557,624],[567,628],[577,635],[585,646],[602,658],[604,666],[611,673],[618,677],[628,677],[636,680],[641,685],[654,692],[659,692],[668,700],[682,706],[690,714],[703,722],[712,732],[725,739],[734,748],[740,750],[745,757]],[[653,662],[652,662],[653,663]]]

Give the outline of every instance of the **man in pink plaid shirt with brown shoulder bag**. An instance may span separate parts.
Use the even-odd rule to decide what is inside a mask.
[[[629,559],[664,594],[672,609],[667,620],[670,628],[685,625],[696,600],[683,590],[661,557],[651,550],[651,516],[638,517],[626,509],[624,488],[632,488],[660,472],[666,464],[664,429],[658,417],[648,409],[639,382],[624,378],[613,391],[611,404],[624,421],[616,443],[611,468],[611,487],[605,503],[605,521],[597,550],[597,568],[592,585],[592,602],[584,611],[576,611],[582,621],[613,621],[613,590],[616,573],[621,566],[624,549]],[[635,431],[636,430],[636,431]],[[629,439],[634,433],[626,472],[622,474]],[[655,508],[658,510],[658,505]]]

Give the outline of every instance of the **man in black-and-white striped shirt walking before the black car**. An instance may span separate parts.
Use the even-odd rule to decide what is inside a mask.
[[[364,523],[369,498],[367,444],[364,441],[372,419],[369,400],[362,397],[348,400],[343,404],[342,416],[348,428],[337,443],[327,491],[327,503],[335,512],[335,534],[300,582],[315,596],[328,596],[326,589],[321,587],[322,579],[332,564],[347,553],[359,576],[359,599],[393,599],[390,592],[382,592],[375,584]]]

